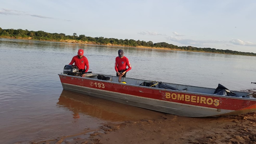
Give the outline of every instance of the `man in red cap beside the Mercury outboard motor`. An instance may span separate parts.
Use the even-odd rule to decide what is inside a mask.
[[[87,72],[89,70],[89,62],[84,56],[84,50],[79,49],[77,54],[78,55],[74,56],[69,64],[75,63],[75,66],[78,67],[79,72]],[[85,74],[83,74],[82,77],[85,77]]]

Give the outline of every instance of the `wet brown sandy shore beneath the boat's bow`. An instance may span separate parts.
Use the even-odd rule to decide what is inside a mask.
[[[106,123],[76,136],[31,143],[256,143],[256,112],[237,116],[183,117],[162,113],[156,119]]]

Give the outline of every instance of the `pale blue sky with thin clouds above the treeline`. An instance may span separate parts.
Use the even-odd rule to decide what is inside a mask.
[[[2,0],[0,27],[256,53],[255,0]]]

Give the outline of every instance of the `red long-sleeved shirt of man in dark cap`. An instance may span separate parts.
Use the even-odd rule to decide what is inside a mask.
[[[127,57],[125,57],[125,56],[123,58],[116,57],[116,62],[115,62],[116,72],[125,70],[126,66],[128,66],[126,72],[132,69],[129,59]]]

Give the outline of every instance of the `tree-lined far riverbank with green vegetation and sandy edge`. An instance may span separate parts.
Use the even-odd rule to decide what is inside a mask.
[[[214,48],[197,48],[192,46],[178,47],[177,45],[168,44],[166,42],[153,43],[152,41],[135,41],[135,40],[118,40],[117,38],[104,38],[104,37],[90,37],[85,35],[77,36],[73,33],[72,36],[63,33],[48,33],[44,31],[29,31],[22,29],[2,29],[0,28],[0,37],[3,38],[21,38],[21,39],[32,39],[32,40],[45,40],[45,41],[61,41],[61,40],[75,40],[81,42],[91,42],[101,45],[116,45],[116,46],[127,46],[127,47],[149,47],[149,48],[167,48],[170,50],[182,50],[182,51],[195,51],[195,52],[208,52],[208,53],[219,53],[219,54],[233,54],[233,55],[246,55],[256,56],[256,53],[248,53],[233,50],[222,50]]]

